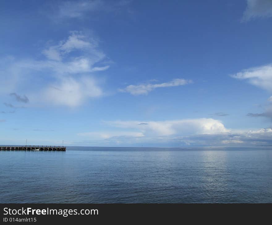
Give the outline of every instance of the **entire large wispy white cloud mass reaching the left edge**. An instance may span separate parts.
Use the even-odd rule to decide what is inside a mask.
[[[107,70],[109,65],[98,43],[92,36],[73,31],[67,39],[47,46],[42,51],[45,59],[2,60],[0,92],[26,93],[32,104],[43,101],[69,107],[102,96],[100,82],[93,73]],[[32,88],[26,88],[30,85]]]

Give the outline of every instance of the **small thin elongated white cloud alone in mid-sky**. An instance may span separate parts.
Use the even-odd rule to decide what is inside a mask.
[[[140,84],[140,85],[128,85],[124,89],[118,89],[120,92],[128,92],[132,95],[147,95],[155,88],[175,87],[192,83],[191,80],[185,79],[173,79],[169,82],[162,84]]]

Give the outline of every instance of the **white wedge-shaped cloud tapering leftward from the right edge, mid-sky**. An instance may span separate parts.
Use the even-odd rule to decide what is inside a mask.
[[[272,64],[249,68],[232,75],[232,77],[248,80],[250,84],[272,92]]]

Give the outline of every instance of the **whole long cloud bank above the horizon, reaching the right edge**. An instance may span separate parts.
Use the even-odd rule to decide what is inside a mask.
[[[145,125],[139,125],[144,123]],[[108,121],[115,131],[87,132],[78,135],[84,142],[100,145],[134,146],[254,146],[271,145],[272,129],[226,129],[214,119],[175,121]]]

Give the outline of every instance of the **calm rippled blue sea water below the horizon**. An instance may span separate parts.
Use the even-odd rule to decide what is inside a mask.
[[[0,203],[272,202],[272,148],[0,151]]]

